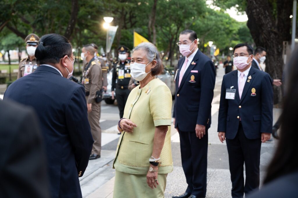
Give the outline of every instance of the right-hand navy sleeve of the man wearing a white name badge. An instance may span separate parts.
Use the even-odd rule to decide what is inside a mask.
[[[261,88],[261,133],[272,133],[273,89],[271,77],[266,74],[262,80]]]

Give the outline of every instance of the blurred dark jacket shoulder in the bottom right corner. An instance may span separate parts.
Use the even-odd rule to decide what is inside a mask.
[[[298,195],[298,172],[280,177],[265,184],[260,191],[249,194],[247,198],[294,198]]]

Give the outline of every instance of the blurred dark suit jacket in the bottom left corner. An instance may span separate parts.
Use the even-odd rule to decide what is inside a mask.
[[[33,109],[0,100],[0,197],[49,197],[46,158]]]

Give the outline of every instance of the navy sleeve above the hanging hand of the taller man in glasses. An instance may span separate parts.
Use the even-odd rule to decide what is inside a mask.
[[[201,71],[201,98],[197,124],[206,125],[211,114],[211,103],[215,86],[215,67],[211,60],[207,61]]]

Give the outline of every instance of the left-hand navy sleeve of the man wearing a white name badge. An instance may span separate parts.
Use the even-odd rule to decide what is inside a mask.
[[[225,76],[221,83],[221,99],[219,102],[218,111],[218,132],[226,132],[226,116],[228,114],[229,102],[226,100],[226,86],[225,86]]]

